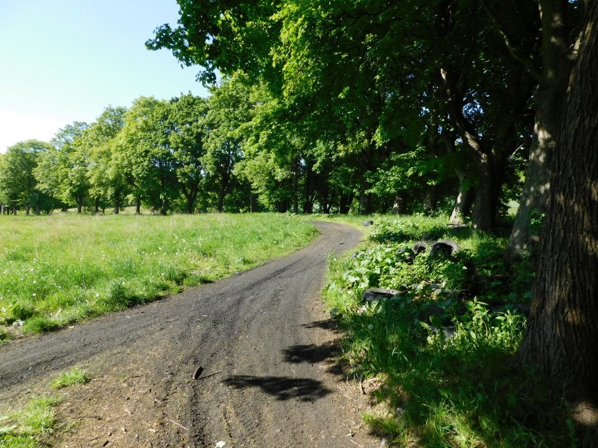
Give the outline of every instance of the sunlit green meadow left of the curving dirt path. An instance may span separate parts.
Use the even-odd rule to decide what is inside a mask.
[[[0,216],[0,340],[249,269],[316,234],[271,214]]]

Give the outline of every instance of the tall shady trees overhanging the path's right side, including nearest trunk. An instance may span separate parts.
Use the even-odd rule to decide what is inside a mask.
[[[473,205],[481,231],[517,196],[509,258],[536,253],[546,217],[519,360],[598,426],[598,2],[178,4],[178,24],[147,46],[198,65],[206,83],[248,76],[260,95],[246,167],[263,171],[260,192],[294,210],[366,213],[456,196],[451,219]]]

